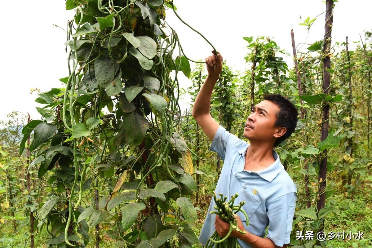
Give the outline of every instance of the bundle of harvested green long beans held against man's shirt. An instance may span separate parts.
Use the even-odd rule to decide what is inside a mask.
[[[215,248],[241,248],[238,244],[238,239],[235,237],[230,237],[230,234],[232,231],[238,231],[242,234],[246,233],[238,228],[238,216],[237,212],[242,212],[244,216],[246,216],[247,219],[247,226],[248,226],[248,217],[246,212],[244,212],[241,207],[246,203],[245,201],[240,202],[239,205],[234,205],[234,200],[236,197],[238,197],[238,193],[236,193],[234,196],[231,196],[231,199],[226,202],[227,196],[223,197],[223,194],[218,194],[221,196],[221,198],[217,198],[216,193],[213,192],[213,198],[216,203],[216,206],[214,208],[217,211],[211,211],[209,214],[215,213],[218,215],[222,220],[224,220],[226,223],[230,223],[229,232],[225,237],[219,236],[218,232],[215,231],[212,236],[208,239],[206,242],[205,248],[214,247]],[[223,199],[223,200],[222,200]]]

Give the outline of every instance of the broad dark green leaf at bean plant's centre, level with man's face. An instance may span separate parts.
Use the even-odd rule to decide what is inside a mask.
[[[134,146],[142,143],[146,131],[150,127],[147,119],[135,112],[123,116],[123,125],[125,126],[126,143]]]

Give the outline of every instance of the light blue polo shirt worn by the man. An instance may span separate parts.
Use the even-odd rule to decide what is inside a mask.
[[[272,165],[257,172],[244,170],[246,154],[249,144],[219,126],[210,150],[217,152],[224,160],[221,175],[215,189],[224,196],[238,193],[234,205],[246,201],[243,210],[247,213],[249,225],[246,226],[246,217],[238,212],[244,228],[257,236],[264,237],[267,226],[266,238],[271,239],[275,245],[289,244],[292,231],[292,220],[296,208],[297,189],[292,178],[284,170],[279,160],[279,155],[273,150],[276,159]],[[215,202],[212,198],[208,213],[199,236],[199,241],[204,245],[215,231],[216,215],[209,212],[214,209]],[[241,248],[251,246],[238,239]]]

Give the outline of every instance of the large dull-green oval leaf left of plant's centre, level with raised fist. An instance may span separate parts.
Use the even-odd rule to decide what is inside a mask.
[[[115,77],[115,66],[111,59],[106,55],[100,55],[94,60],[94,72],[96,74],[97,82],[100,86],[105,88]]]

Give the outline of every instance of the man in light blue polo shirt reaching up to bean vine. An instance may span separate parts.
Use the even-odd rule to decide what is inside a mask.
[[[265,100],[253,107],[244,126],[244,137],[239,139],[226,131],[210,114],[211,95],[222,70],[222,56],[205,59],[208,76],[201,87],[192,109],[192,115],[212,141],[210,150],[224,160],[215,192],[228,196],[238,193],[235,203],[245,201],[243,210],[248,220],[238,212],[238,227],[246,231],[231,233],[238,238],[241,248],[287,247],[290,242],[292,220],[296,207],[297,189],[284,170],[278,154],[273,150],[294,132],[298,111],[294,104],[280,94],[265,96]],[[217,215],[214,200],[199,236],[204,245],[217,231],[221,237],[228,233],[230,224]],[[263,238],[266,234],[267,236]]]

